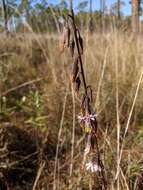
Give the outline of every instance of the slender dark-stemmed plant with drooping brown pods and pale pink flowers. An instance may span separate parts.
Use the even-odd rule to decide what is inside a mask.
[[[65,18],[65,26],[60,39],[60,52],[63,53],[65,48],[69,48],[73,57],[73,65],[71,72],[71,82],[75,92],[78,93],[81,83],[84,87],[84,94],[81,97],[81,114],[78,116],[79,123],[87,134],[87,143],[84,150],[84,155],[92,154],[92,159],[85,164],[85,167],[90,172],[98,172],[102,177],[104,189],[107,189],[105,179],[105,171],[103,163],[100,159],[100,151],[97,140],[97,119],[96,113],[92,111],[92,89],[87,86],[83,68],[82,55],[84,52],[83,39],[80,31],[76,26],[74,12],[67,15]],[[95,152],[95,156],[93,153]],[[96,159],[97,157],[97,159]],[[97,160],[97,161],[96,161]]]

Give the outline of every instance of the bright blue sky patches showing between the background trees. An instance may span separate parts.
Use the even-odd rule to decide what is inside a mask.
[[[68,2],[69,0],[67,0]],[[78,3],[82,2],[83,0],[73,0],[74,8],[77,7]],[[93,1],[93,10],[99,10],[100,8],[100,0],[92,0]],[[130,15],[131,14],[131,5],[129,4],[129,0],[123,0],[125,2],[125,5],[122,7],[122,12],[124,15]],[[48,0],[49,3],[52,4],[58,4],[60,0]],[[107,8],[110,8],[110,6],[117,2],[117,0],[105,0]]]

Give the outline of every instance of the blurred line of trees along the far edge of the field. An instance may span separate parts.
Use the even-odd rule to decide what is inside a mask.
[[[46,0],[1,0],[0,2],[0,30],[15,32],[56,32],[60,31],[62,16],[73,7],[72,0],[61,0],[59,4],[49,4]],[[93,11],[93,1],[80,1],[76,7],[76,20],[81,29],[105,32],[111,28],[138,33],[142,31],[142,0],[131,0],[132,15],[124,16],[122,7],[126,6],[122,0],[117,0],[107,9],[106,0],[98,0],[100,10]],[[89,7],[89,8],[88,8]],[[89,10],[88,10],[89,9]]]

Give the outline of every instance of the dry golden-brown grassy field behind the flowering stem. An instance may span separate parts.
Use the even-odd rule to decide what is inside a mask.
[[[142,190],[142,36],[115,31],[83,38],[108,189]],[[57,35],[0,38],[1,189],[102,189],[98,173],[82,167],[85,138],[77,120],[79,100],[72,96],[71,64],[68,51],[59,53]]]

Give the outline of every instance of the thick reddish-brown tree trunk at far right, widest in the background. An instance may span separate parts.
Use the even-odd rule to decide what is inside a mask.
[[[139,0],[132,0],[132,32],[139,32]]]

